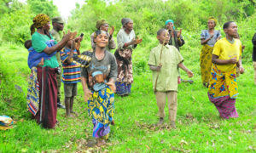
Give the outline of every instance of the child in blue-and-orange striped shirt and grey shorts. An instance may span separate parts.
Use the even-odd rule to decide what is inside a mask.
[[[79,48],[77,48],[79,50]],[[64,83],[66,116],[72,117],[73,100],[77,95],[77,83],[80,82],[80,65],[73,61],[73,56],[78,54],[75,49],[75,41],[67,42],[61,50],[61,62],[63,67],[62,82]]]

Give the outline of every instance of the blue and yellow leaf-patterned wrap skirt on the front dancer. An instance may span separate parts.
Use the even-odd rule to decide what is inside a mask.
[[[113,120],[114,97],[113,91],[107,87],[100,91],[91,91],[88,100],[88,113],[92,117],[93,134],[95,138],[107,136],[110,132],[109,123]]]

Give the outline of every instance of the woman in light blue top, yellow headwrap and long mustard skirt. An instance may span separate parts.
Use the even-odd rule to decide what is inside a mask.
[[[201,45],[203,45],[200,54],[201,81],[205,87],[208,86],[211,79],[212,49],[221,37],[220,31],[214,30],[216,24],[217,20],[210,17],[207,23],[208,30],[201,31]]]

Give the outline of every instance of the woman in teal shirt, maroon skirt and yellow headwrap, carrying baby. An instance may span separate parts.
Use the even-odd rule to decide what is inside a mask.
[[[37,31],[36,31],[37,30]],[[56,43],[49,34],[49,16],[46,14],[38,14],[33,19],[31,26],[32,48],[38,53],[51,54],[51,57],[44,59],[44,65],[38,65],[32,68],[32,78],[37,82],[38,86],[38,104],[28,103],[30,111],[33,111],[32,118],[38,123],[43,123],[45,128],[54,128],[57,115],[57,81],[56,73],[58,72],[58,62],[55,52],[61,50],[66,43],[73,38],[73,33],[68,32],[61,42]],[[54,42],[51,47],[49,42]],[[29,60],[29,59],[28,59]],[[31,85],[31,84],[30,84]],[[38,108],[34,108],[35,104]],[[33,109],[31,109],[33,108]],[[31,111],[31,112],[32,112]]]

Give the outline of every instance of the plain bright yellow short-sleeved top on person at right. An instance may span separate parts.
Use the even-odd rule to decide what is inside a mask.
[[[241,41],[235,39],[233,43],[229,42],[225,37],[218,40],[213,47],[212,54],[218,56],[218,59],[232,59],[236,57],[237,61],[241,57]],[[236,64],[217,65],[219,71],[231,71]]]

